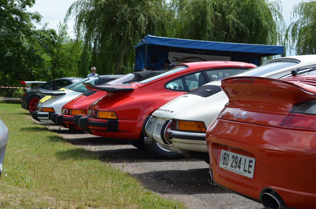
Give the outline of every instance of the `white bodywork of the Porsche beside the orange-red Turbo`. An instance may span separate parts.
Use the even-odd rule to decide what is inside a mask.
[[[284,76],[291,74],[291,71],[297,68],[307,68],[316,65],[316,55],[293,56],[285,58],[276,58],[272,60],[279,59],[294,59],[300,61],[300,63],[277,71],[266,73],[261,77],[282,78]],[[272,60],[269,60],[268,62]],[[204,85],[221,86],[221,82],[214,81],[206,83]],[[181,95],[176,99],[163,105],[155,112],[153,112],[152,116],[157,117],[157,120],[153,125],[153,128],[155,129],[155,125],[157,123],[164,124],[166,120],[178,119],[189,121],[203,121],[207,129],[211,125],[211,123],[216,119],[217,115],[224,108],[224,105],[227,102],[228,97],[223,91],[218,92],[209,97],[202,97],[192,94]],[[158,143],[165,144],[161,139],[160,133],[157,134],[153,131],[152,136],[149,137],[152,137]],[[173,137],[172,144],[165,145],[167,145],[167,148],[170,151],[174,151],[188,156],[192,151],[208,152],[206,140],[179,139]]]

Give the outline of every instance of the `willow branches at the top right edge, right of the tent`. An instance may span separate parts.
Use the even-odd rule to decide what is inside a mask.
[[[292,11],[292,22],[287,29],[289,46],[298,55],[316,53],[316,1],[296,4]]]

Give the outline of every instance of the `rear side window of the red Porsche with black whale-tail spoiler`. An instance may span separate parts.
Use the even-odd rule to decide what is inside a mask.
[[[166,88],[167,89],[174,89],[174,90],[185,90],[185,91],[191,91],[193,89],[196,89],[197,87],[205,84],[205,78],[202,74],[202,72],[198,72],[195,74],[191,74],[188,76],[184,76],[181,78],[178,78],[176,80],[173,80],[169,83],[167,83]]]

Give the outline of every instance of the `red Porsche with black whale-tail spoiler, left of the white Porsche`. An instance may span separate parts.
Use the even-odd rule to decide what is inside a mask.
[[[75,124],[96,136],[128,139],[131,144],[140,148],[144,146],[144,120],[157,108],[210,82],[212,76],[219,75],[220,71],[232,75],[253,67],[255,65],[241,62],[195,62],[177,65],[172,70],[135,83],[108,87],[87,83],[86,88],[106,91],[108,94],[92,103],[88,107],[88,116],[79,118]],[[156,144],[153,143],[153,146]],[[170,154],[171,158],[179,156],[163,147],[157,149]]]

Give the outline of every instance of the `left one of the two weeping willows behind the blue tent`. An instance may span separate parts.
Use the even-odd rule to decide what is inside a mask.
[[[86,52],[82,73],[89,66],[98,74],[121,74],[132,69],[134,46],[146,34],[169,36],[167,22],[172,18],[164,0],[78,0],[65,21],[75,18],[75,34],[84,41]],[[91,57],[89,51],[91,50]]]

